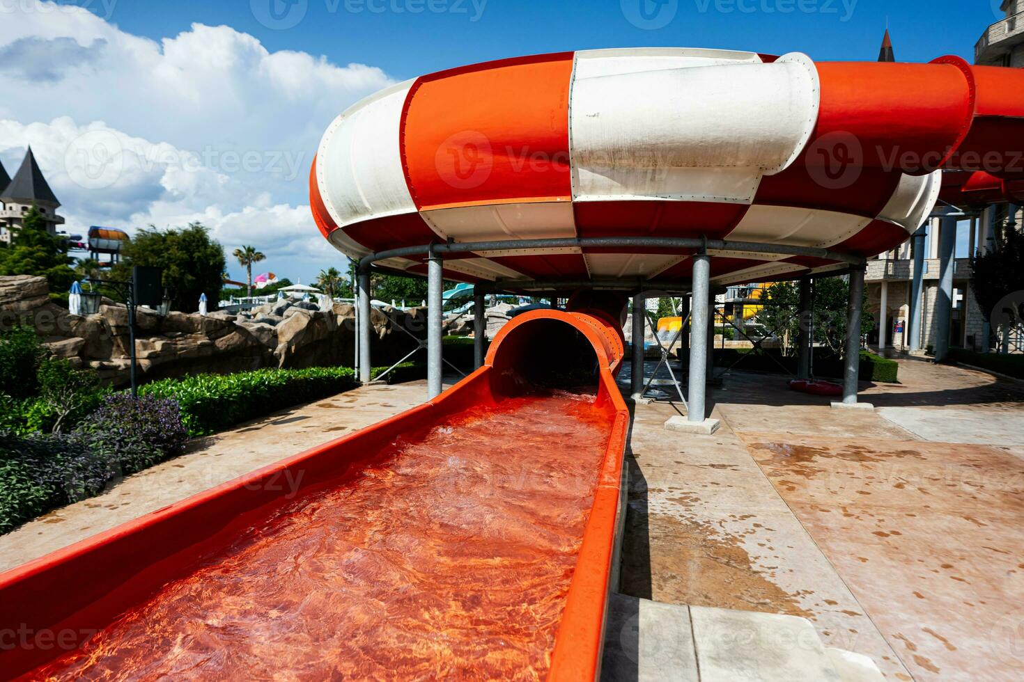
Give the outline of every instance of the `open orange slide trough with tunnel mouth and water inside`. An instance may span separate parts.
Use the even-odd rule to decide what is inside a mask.
[[[623,349],[520,315],[437,399],[3,574],[3,677],[594,679]]]

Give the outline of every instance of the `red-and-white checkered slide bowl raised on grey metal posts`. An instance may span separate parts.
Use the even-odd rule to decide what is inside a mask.
[[[431,242],[601,237],[870,257],[921,227],[944,171],[1024,180],[1021,139],[1021,69],[955,56],[581,50],[429,74],[356,102],[323,137],[310,206],[326,239],[351,258]],[[488,246],[443,268],[471,283],[685,281],[693,251]],[[711,255],[719,285],[848,267],[756,248]],[[392,254],[376,266],[424,274],[425,257]]]

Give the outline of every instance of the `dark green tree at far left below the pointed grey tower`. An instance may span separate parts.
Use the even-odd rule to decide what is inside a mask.
[[[20,228],[14,228],[11,243],[0,248],[0,275],[46,277],[50,291],[62,293],[75,281],[68,244],[46,231],[46,221],[35,203],[25,214]]]

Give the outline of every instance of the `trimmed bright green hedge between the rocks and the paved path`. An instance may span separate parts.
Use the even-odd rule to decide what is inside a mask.
[[[354,385],[355,372],[350,367],[257,369],[164,379],[143,385],[139,395],[173,398],[188,435],[207,436]]]

